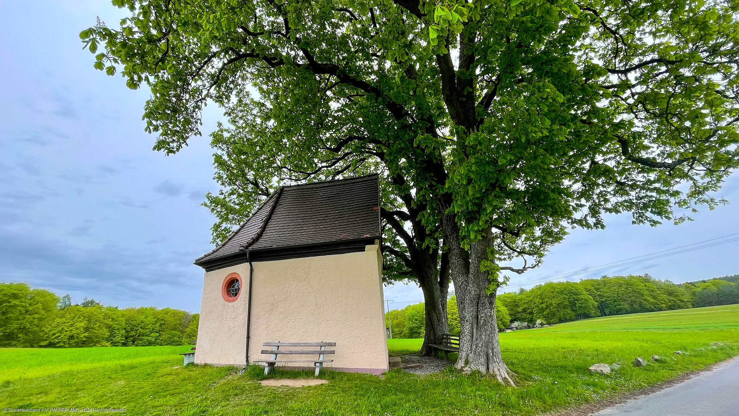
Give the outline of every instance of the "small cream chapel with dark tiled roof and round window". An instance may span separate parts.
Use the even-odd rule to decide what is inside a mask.
[[[336,342],[326,368],[385,372],[379,207],[378,175],[273,192],[195,261],[205,269],[195,363],[242,366],[268,358],[265,342],[322,341]]]

